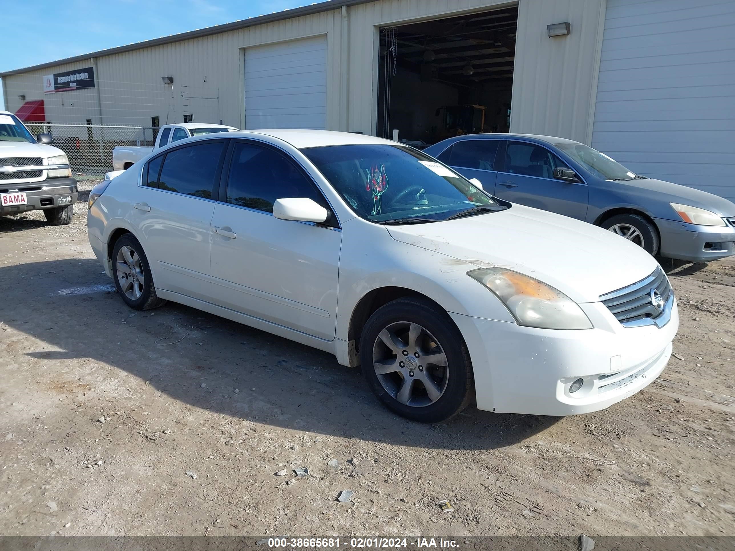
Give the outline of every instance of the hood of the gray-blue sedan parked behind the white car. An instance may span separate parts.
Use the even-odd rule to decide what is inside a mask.
[[[638,204],[641,205],[645,205],[647,201],[651,200],[665,201],[666,203],[696,206],[725,218],[735,216],[735,204],[732,201],[728,201],[719,195],[714,195],[706,191],[695,190],[693,187],[673,184],[670,181],[648,178],[644,180],[613,181],[608,183],[613,184],[615,187],[625,187],[627,190],[625,195],[631,198],[639,198]],[[670,211],[670,216],[659,217],[678,221],[674,210],[670,209]],[[659,215],[659,212],[654,212],[654,215]]]

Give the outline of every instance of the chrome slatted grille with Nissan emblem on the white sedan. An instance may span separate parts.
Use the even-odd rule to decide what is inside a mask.
[[[664,305],[674,294],[661,267],[657,267],[651,275],[637,283],[600,295],[600,301],[623,325],[640,325],[637,322],[646,318],[653,321],[664,313],[665,308],[656,309],[653,306],[651,295],[654,290],[661,295]]]

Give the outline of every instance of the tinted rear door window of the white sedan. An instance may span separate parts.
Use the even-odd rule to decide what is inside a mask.
[[[211,199],[223,149],[223,142],[206,142],[169,151],[159,189]]]

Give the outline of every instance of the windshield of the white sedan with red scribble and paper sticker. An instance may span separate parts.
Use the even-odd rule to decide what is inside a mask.
[[[394,145],[328,145],[301,152],[354,212],[376,223],[437,222],[507,208],[436,159]]]

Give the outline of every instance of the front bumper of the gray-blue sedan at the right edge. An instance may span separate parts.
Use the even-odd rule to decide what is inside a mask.
[[[735,254],[735,228],[698,226],[654,218],[661,234],[661,256],[689,262],[709,262]]]

